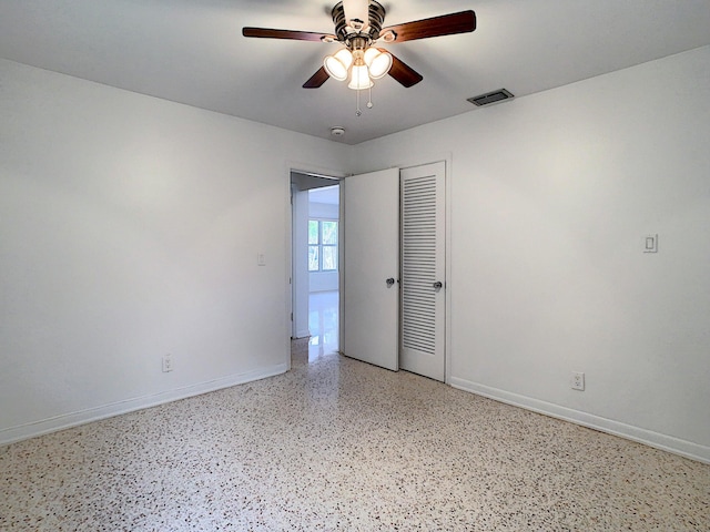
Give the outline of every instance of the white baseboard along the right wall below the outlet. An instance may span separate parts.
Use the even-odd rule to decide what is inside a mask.
[[[580,410],[574,410],[551,402],[540,401],[530,397],[478,385],[457,377],[452,377],[449,383],[459,390],[470,391],[471,393],[484,396],[507,405],[513,405],[514,407],[525,408],[526,410],[542,413],[551,418],[570,421],[572,423],[581,424],[582,427],[588,427],[601,432],[638,441],[639,443],[645,443],[656,449],[680,454],[681,457],[690,458],[699,462],[710,463],[710,447],[708,446],[701,446],[691,441],[681,440],[680,438],[653,432],[652,430],[641,429],[639,427],[582,412]]]

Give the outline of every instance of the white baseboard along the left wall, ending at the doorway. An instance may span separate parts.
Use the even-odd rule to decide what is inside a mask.
[[[187,397],[200,396],[202,393],[220,390],[222,388],[230,388],[232,386],[243,385],[245,382],[265,379],[267,377],[274,377],[276,375],[286,372],[287,370],[287,364],[278,364],[276,366],[271,366],[264,369],[230,375],[226,377],[221,377],[219,379],[176,388],[174,390],[161,391],[159,393],[126,399],[124,401],[88,408],[85,410],[63,413],[61,416],[55,416],[52,418],[47,418],[17,427],[10,427],[0,430],[0,446],[14,443],[17,441],[27,440],[29,438],[34,438],[37,436],[42,436],[50,432],[57,432],[59,430],[90,423],[92,421],[99,421],[101,419],[111,418],[113,416],[120,416],[122,413],[142,410],[144,408],[156,407],[159,405],[185,399]]]

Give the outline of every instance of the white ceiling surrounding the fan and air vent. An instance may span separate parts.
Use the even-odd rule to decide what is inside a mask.
[[[1,0],[0,57],[324,139],[342,125],[337,141],[356,144],[475,112],[466,99],[484,92],[524,96],[710,44],[710,0],[384,1],[385,25],[473,9],[478,28],[385,47],[424,81],[378,81],[375,106],[357,117],[344,83],[301,88],[337,44],[241,34],[332,32],[334,3]]]

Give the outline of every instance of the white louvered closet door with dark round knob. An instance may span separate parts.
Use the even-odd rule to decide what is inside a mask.
[[[445,164],[405,168],[402,176],[400,367],[444,380]],[[439,286],[440,284],[440,286]]]

